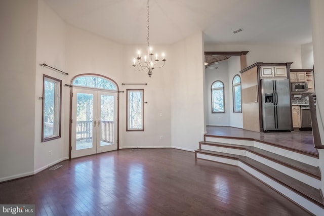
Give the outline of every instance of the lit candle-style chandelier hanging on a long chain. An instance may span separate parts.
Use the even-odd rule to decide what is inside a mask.
[[[152,47],[150,47],[150,33],[149,33],[149,5],[148,5],[148,0],[147,0],[147,56],[144,56],[144,61],[142,60],[141,57],[141,51],[138,50],[137,54],[137,61],[136,59],[133,60],[133,67],[135,71],[141,71],[141,70],[146,70],[148,76],[151,78],[152,72],[154,68],[159,68],[163,67],[165,62],[167,61],[165,59],[164,53],[162,53],[162,63],[159,63],[159,60],[157,58],[157,54],[155,54],[155,59],[153,58],[154,54],[152,53]],[[137,66],[136,63],[138,63],[138,66],[140,66],[141,69],[136,70],[135,67]]]

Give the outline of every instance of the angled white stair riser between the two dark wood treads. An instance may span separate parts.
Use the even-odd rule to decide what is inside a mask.
[[[272,160],[269,160],[267,158],[261,157],[259,155],[253,154],[252,152],[247,151],[247,157],[254,159],[256,161],[259,161],[260,163],[263,163],[271,168],[274,168],[290,177],[293,177],[294,179],[297,179],[298,181],[301,181],[311,187],[314,187],[316,189],[320,189],[321,183],[318,179],[315,179],[311,176],[305,175],[302,172],[299,172],[295,169],[289,168],[287,166],[281,165],[279,163],[276,163]]]

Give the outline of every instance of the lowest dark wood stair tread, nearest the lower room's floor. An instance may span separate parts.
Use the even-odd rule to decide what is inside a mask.
[[[222,153],[222,152],[215,152],[209,151],[204,149],[197,149],[195,153],[200,154],[207,154],[215,157],[224,157],[233,160],[238,160],[247,166],[257,170],[259,173],[263,174],[264,176],[272,179],[273,181],[279,183],[290,189],[291,191],[299,194],[300,196],[304,197],[305,199],[309,200],[312,203],[315,203],[321,208],[324,208],[324,201],[321,197],[320,190],[315,189],[303,182],[300,182],[276,169],[273,169],[263,163],[260,163],[256,160],[253,160],[247,156],[240,156],[235,154],[229,153]]]

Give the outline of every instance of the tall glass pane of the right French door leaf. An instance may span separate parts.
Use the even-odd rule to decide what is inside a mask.
[[[101,95],[100,146],[113,144],[114,97]]]

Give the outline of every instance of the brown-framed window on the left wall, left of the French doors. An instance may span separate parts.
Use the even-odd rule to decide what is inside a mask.
[[[61,137],[62,81],[43,76],[42,142]]]

